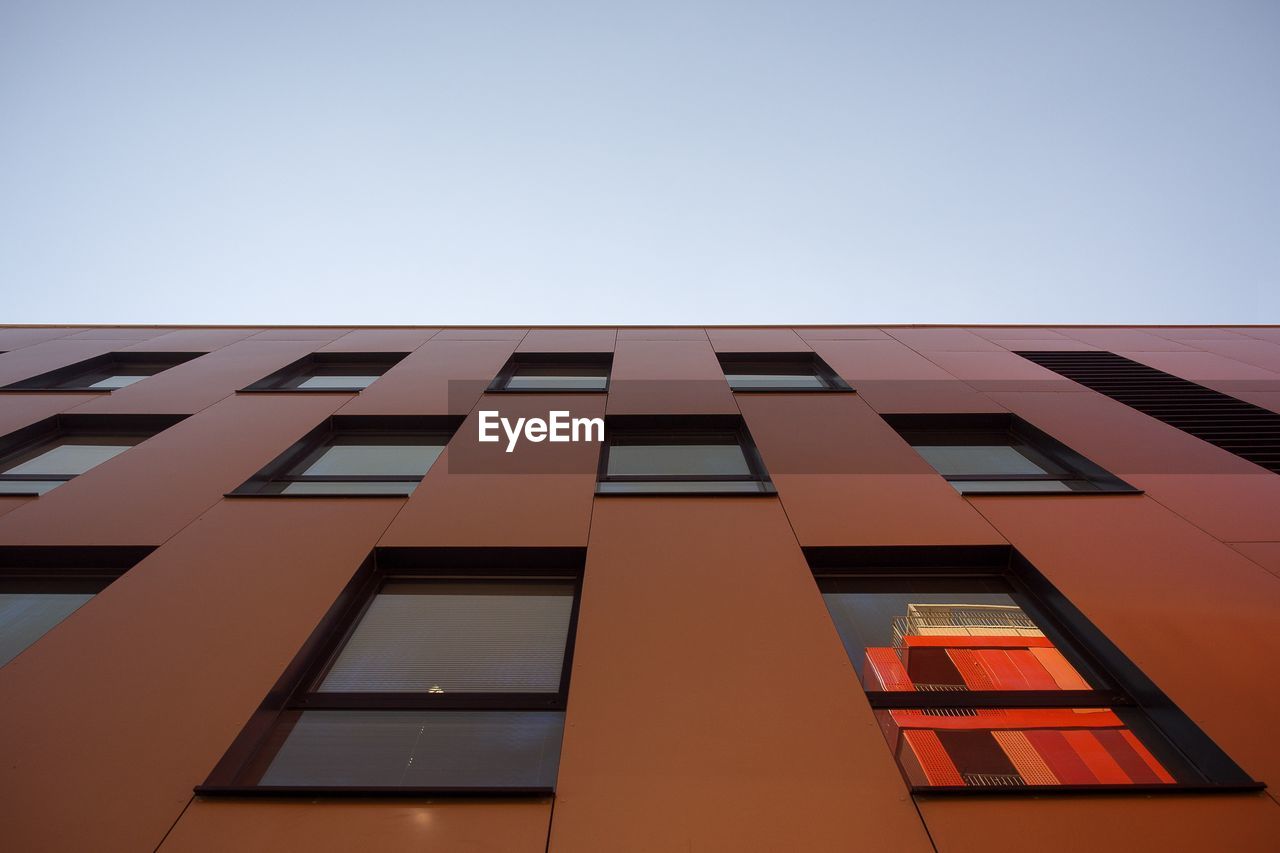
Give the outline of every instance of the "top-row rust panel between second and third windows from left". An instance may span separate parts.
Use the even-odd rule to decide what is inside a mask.
[[[342,409],[343,415],[465,415],[475,409],[515,341],[456,341],[440,332]]]

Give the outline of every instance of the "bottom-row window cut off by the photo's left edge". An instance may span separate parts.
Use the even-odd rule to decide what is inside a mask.
[[[0,666],[106,588],[150,548],[0,548]]]

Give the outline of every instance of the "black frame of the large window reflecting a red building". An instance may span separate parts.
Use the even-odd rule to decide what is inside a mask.
[[[1015,594],[1019,606],[1044,630],[1068,660],[1079,658],[1101,676],[1092,690],[867,690],[873,711],[940,708],[1123,708],[1142,715],[1144,727],[1176,754],[1183,772],[1199,780],[1172,784],[1064,784],[1064,785],[911,785],[915,795],[1043,795],[1043,794],[1185,794],[1257,792],[1253,780],[1190,717],[1174,704],[1088,617],[1062,596],[1036,566],[1011,546],[892,546],[806,547],[803,549],[818,587],[826,594],[840,579],[997,580]],[[829,615],[828,615],[829,617]],[[832,620],[835,625],[835,620]],[[847,649],[845,649],[847,653]],[[1137,736],[1137,735],[1135,735]],[[1147,738],[1139,738],[1149,748]],[[896,757],[895,757],[896,762]],[[1171,774],[1172,775],[1172,774]],[[1176,776],[1175,776],[1176,780]]]

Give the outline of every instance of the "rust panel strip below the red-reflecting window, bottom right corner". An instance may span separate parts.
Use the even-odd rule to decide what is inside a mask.
[[[1280,838],[1280,808],[1265,794],[922,797],[918,804],[938,853],[992,853],[1010,831],[1037,853],[1274,853]]]

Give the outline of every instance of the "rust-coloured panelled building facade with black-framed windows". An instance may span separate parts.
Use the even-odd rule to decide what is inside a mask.
[[[1280,328],[0,351],[4,849],[1280,848]]]

